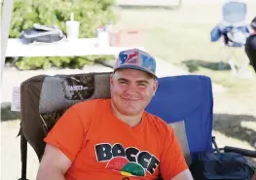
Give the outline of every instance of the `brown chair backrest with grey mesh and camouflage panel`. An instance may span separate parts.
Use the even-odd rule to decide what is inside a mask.
[[[21,132],[39,161],[46,137],[58,118],[75,103],[110,97],[110,73],[41,75],[20,87]]]

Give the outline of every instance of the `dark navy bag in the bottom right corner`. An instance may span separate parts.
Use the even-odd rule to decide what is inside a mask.
[[[215,137],[212,137],[212,143],[217,153],[200,153],[196,160],[190,165],[190,170],[194,180],[251,180],[255,169],[246,159],[238,154],[240,149],[224,148],[225,153],[221,153]],[[233,153],[229,150],[233,150]],[[243,152],[244,154],[244,152]],[[248,151],[245,155],[254,154]],[[253,155],[254,157],[254,155]]]

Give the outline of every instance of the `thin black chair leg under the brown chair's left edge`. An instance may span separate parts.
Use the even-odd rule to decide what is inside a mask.
[[[21,178],[18,180],[26,179],[26,160],[27,160],[27,141],[22,133],[20,133],[20,155],[21,155]]]

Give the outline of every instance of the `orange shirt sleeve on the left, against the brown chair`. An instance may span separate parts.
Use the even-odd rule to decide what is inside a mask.
[[[80,151],[88,126],[83,125],[78,104],[71,106],[55,123],[44,141],[58,148],[71,162]],[[89,120],[87,120],[89,121]]]

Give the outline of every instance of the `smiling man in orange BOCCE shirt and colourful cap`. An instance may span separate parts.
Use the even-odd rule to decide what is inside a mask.
[[[119,54],[111,98],[70,107],[48,136],[37,180],[193,180],[172,128],[145,112],[158,88],[155,58]]]

